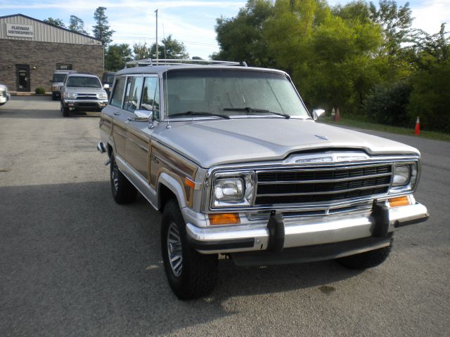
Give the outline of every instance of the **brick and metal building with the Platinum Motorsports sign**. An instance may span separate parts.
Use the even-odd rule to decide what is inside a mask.
[[[55,70],[101,77],[104,48],[89,35],[22,14],[0,17],[0,82],[10,91],[51,91]]]

